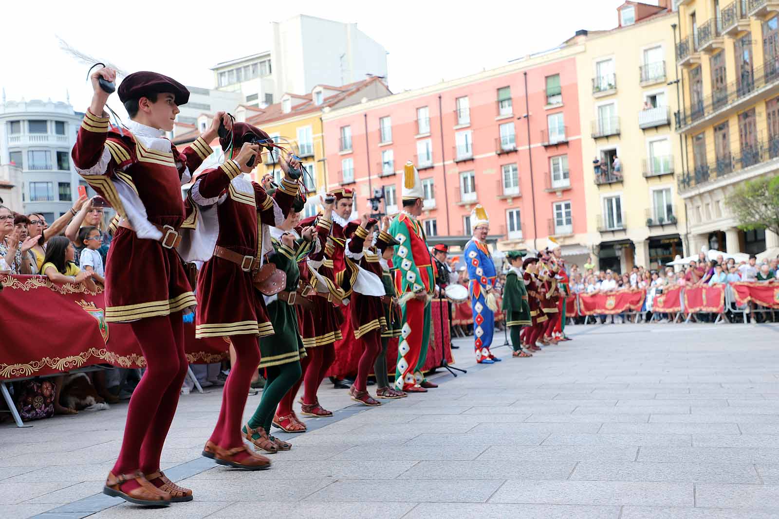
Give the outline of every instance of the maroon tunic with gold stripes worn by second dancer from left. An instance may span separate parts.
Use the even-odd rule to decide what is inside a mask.
[[[276,226],[283,222],[297,191],[298,184],[285,178],[271,197],[259,184],[241,175],[238,163],[227,160],[199,174],[189,195],[199,205],[210,207],[206,210],[217,211],[217,247],[253,259],[262,254],[261,224]],[[254,288],[252,275],[251,270],[245,271],[224,258],[214,256],[206,261],[197,282],[197,338],[273,335],[263,296]]]

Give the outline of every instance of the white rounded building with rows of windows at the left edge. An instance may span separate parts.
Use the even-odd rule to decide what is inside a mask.
[[[12,209],[41,212],[48,222],[68,212],[78,198],[79,176],[70,150],[82,118],[59,101],[0,103],[0,165],[16,164],[22,170],[23,207]]]

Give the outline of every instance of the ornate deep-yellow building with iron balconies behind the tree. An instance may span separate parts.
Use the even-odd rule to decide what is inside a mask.
[[[677,0],[676,62],[684,103],[679,191],[691,248],[756,254],[768,231],[738,230],[726,203],[735,185],[779,168],[779,2]]]

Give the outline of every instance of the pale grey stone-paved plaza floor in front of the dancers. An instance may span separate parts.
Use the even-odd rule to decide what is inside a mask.
[[[2,426],[0,517],[779,517],[779,326],[569,331],[494,366],[457,339],[467,374],[380,408],[325,383],[335,416],[284,435],[270,471],[200,457],[220,391],[182,397],[162,461],[195,501],[162,510],[99,494],[124,404]]]

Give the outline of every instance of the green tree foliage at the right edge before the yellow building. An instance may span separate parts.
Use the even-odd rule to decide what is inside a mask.
[[[741,230],[779,234],[779,176],[758,177],[736,186],[725,200]]]

